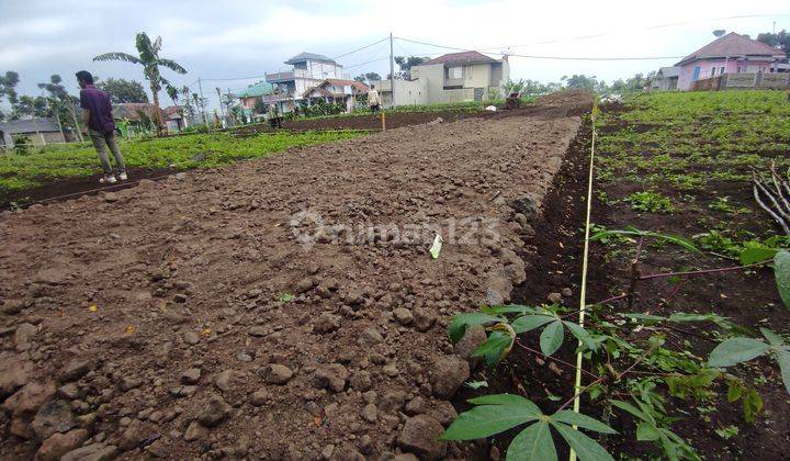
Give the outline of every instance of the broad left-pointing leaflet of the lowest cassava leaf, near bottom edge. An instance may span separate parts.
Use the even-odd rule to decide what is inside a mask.
[[[472,402],[472,401],[470,401]],[[529,401],[528,401],[529,402]],[[441,440],[474,440],[499,434],[520,424],[538,419],[541,414],[531,405],[481,405],[459,415],[441,435]]]

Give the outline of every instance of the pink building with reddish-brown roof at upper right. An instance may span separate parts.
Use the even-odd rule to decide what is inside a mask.
[[[678,90],[689,90],[692,82],[722,74],[775,72],[778,61],[786,57],[772,46],[731,32],[675,65],[680,67]]]

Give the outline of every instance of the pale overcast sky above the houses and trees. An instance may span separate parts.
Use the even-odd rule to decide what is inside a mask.
[[[715,8],[711,8],[715,4]],[[760,18],[738,18],[764,15]],[[727,19],[729,18],[729,19]],[[147,1],[0,0],[0,72],[20,74],[21,94],[38,94],[37,82],[59,74],[77,92],[74,74],[143,80],[138,66],[93,63],[106,52],[135,53],[134,35],[161,35],[160,55],[189,70],[171,81],[226,79],[285,69],[306,50],[330,57],[397,37],[466,49],[567,57],[653,57],[658,60],[583,61],[511,57],[511,78],[557,81],[586,74],[611,81],[673,65],[713,40],[714,29],[751,34],[790,29],[788,0],[663,2],[520,1]],[[667,25],[666,24],[674,24]],[[585,37],[585,38],[578,38]],[[552,42],[552,43],[545,43]],[[339,59],[351,76],[388,71],[388,42]],[[395,41],[395,55],[438,56],[450,52]],[[496,57],[496,56],[495,56]],[[257,79],[204,81],[238,90]],[[167,97],[163,100],[169,103]]]

